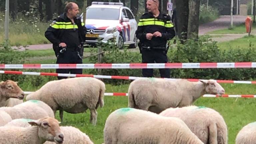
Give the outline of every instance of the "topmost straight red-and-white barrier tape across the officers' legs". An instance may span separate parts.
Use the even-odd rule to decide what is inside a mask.
[[[0,64],[0,69],[255,68],[256,62],[131,64]]]

